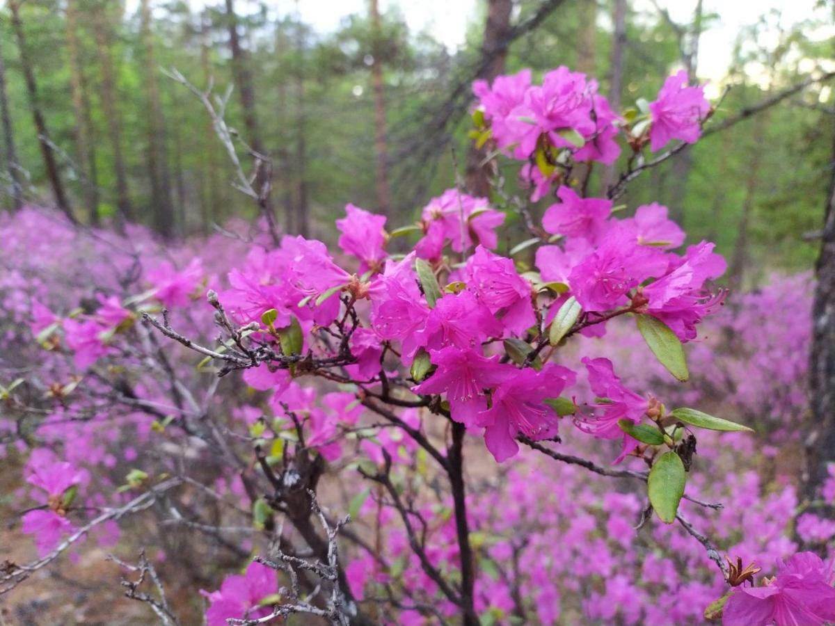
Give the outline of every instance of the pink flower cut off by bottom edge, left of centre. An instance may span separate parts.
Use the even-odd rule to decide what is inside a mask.
[[[276,593],[276,572],[261,563],[250,563],[243,576],[227,576],[220,589],[212,593],[200,590],[209,599],[206,609],[207,626],[226,626],[229,618],[262,618],[271,613],[261,607],[261,600]]]

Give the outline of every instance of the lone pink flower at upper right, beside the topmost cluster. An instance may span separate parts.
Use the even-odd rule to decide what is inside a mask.
[[[695,144],[701,135],[701,120],[711,109],[703,87],[687,87],[681,70],[664,81],[658,99],[650,102],[650,148],[663,148],[671,139]]]

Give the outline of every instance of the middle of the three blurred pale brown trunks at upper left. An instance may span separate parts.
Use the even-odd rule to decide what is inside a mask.
[[[110,56],[108,40],[109,20],[104,5],[94,8],[93,18],[96,49],[101,65],[101,98],[104,116],[107,118],[110,145],[113,149],[113,166],[116,174],[116,229],[124,233],[124,225],[133,219],[128,194],[128,174],[122,155],[122,131],[119,122],[119,110],[116,107],[116,83],[114,78],[113,58]]]

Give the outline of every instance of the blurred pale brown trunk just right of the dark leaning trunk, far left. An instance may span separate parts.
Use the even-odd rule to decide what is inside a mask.
[[[90,216],[90,224],[99,225],[99,177],[93,139],[93,122],[90,118],[87,83],[81,68],[81,45],[78,42],[78,0],[68,0],[66,14],[69,84],[75,114],[75,144],[78,152],[78,169],[84,189],[84,204]]]

